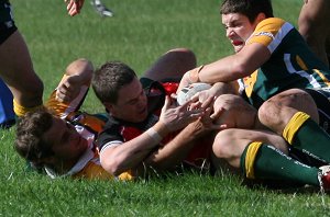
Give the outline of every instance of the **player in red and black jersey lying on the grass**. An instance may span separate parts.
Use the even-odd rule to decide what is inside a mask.
[[[182,48],[163,55],[141,81],[123,62],[106,62],[96,70],[92,88],[110,115],[97,140],[107,171],[116,175],[142,165],[162,171],[183,161],[197,168],[209,164],[212,140],[206,135],[211,130],[201,128],[209,114],[198,118],[199,110],[187,111],[187,103],[175,108],[169,99],[178,83],[167,79],[179,78],[195,64],[195,55]],[[176,114],[164,111],[170,107]]]

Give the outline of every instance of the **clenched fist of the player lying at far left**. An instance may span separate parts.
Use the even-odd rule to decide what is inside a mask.
[[[58,102],[72,102],[80,92],[81,79],[79,76],[68,76],[62,80],[56,89]]]

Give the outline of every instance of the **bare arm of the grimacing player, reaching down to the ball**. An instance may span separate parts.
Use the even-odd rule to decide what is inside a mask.
[[[185,83],[230,82],[244,78],[260,68],[270,57],[271,52],[264,45],[258,43],[245,45],[234,55],[186,72],[180,81],[179,90]]]

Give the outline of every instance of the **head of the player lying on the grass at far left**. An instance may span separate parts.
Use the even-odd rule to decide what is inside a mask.
[[[46,108],[24,115],[16,127],[14,148],[21,157],[37,167],[73,165],[87,149],[72,124],[53,116]]]

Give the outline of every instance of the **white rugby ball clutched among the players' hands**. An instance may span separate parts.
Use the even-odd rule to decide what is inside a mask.
[[[178,93],[177,93],[177,98],[176,101],[179,105],[185,104],[187,101],[189,101],[191,99],[191,96],[194,96],[196,93],[204,91],[204,90],[208,90],[210,89],[212,85],[209,83],[191,83],[188,87],[183,88]]]

